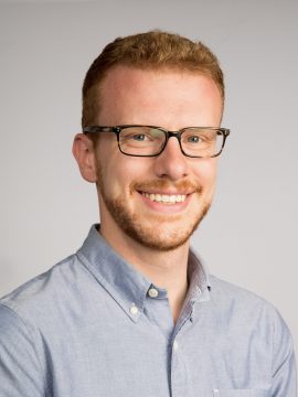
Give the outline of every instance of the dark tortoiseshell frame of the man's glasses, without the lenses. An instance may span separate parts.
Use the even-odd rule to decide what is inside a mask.
[[[121,147],[120,147],[120,140],[119,140],[119,137],[120,137],[120,132],[123,129],[126,129],[126,128],[129,128],[129,127],[149,127],[149,128],[155,128],[155,129],[158,129],[162,132],[164,132],[166,135],[166,140],[160,149],[160,151],[156,154],[130,154],[130,153],[126,153],[121,150]],[[211,130],[211,131],[219,131],[222,133],[223,136],[223,143],[222,143],[222,148],[221,150],[219,151],[219,153],[216,154],[213,154],[213,155],[190,155],[190,154],[187,154],[184,152],[184,150],[182,149],[182,144],[181,144],[181,136],[182,133],[185,131],[185,130],[189,130],[189,129],[192,129],[192,128],[195,128],[195,129],[207,129],[207,130]],[[84,127],[83,128],[83,133],[87,135],[87,133],[97,133],[97,132],[113,132],[113,133],[116,133],[117,136],[117,142],[118,142],[118,148],[120,150],[120,152],[125,155],[131,155],[131,157],[157,157],[159,155],[160,153],[163,152],[163,150],[166,149],[167,147],[167,143],[169,141],[169,139],[171,137],[174,137],[178,139],[178,142],[179,142],[179,146],[180,146],[180,150],[181,152],[185,155],[185,157],[189,157],[189,158],[193,158],[193,159],[212,159],[212,158],[215,158],[217,155],[220,155],[223,151],[223,148],[225,146],[225,141],[226,141],[226,138],[228,137],[230,135],[230,129],[227,128],[216,128],[216,127],[185,127],[185,128],[182,128],[181,130],[178,130],[178,131],[169,131],[167,130],[166,128],[163,127],[157,127],[157,126],[142,126],[142,125],[123,125],[123,126],[114,126],[114,127],[109,127],[109,126],[89,126],[89,127]]]

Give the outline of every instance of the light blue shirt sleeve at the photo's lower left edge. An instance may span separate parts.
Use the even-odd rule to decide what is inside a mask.
[[[0,396],[45,396],[33,335],[10,308],[0,304]]]

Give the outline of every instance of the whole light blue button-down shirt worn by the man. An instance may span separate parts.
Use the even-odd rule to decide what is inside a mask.
[[[167,290],[92,227],[83,247],[0,301],[1,397],[296,397],[277,311],[190,251],[177,323]]]

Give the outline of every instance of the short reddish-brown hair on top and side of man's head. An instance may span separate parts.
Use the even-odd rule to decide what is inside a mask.
[[[224,103],[223,72],[211,50],[201,42],[155,30],[116,39],[93,62],[83,84],[83,127],[95,122],[100,110],[100,83],[118,65],[201,73],[214,81]]]

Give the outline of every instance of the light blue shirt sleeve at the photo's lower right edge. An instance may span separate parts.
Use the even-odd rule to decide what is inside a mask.
[[[277,314],[273,344],[273,397],[297,397],[297,374],[290,332]]]

